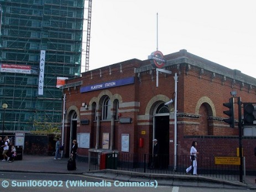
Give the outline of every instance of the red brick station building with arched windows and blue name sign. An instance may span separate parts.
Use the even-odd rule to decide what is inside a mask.
[[[89,151],[151,154],[156,138],[160,153],[170,159],[189,154],[192,141],[198,142],[200,156],[236,157],[237,98],[235,127],[223,121],[228,118],[223,103],[233,90],[242,102],[255,102],[256,79],[186,50],[164,58],[161,69],[171,74],[160,71],[156,77],[152,60],[132,59],[67,80],[62,87],[66,156],[74,139],[79,142],[79,155],[88,156]],[[174,102],[165,105],[171,99]],[[242,129],[247,170],[256,170],[255,129]]]

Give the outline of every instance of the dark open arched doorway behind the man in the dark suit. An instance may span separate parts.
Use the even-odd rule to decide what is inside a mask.
[[[156,106],[153,137],[159,143],[159,168],[166,168],[169,165],[169,116],[168,106],[164,103]]]

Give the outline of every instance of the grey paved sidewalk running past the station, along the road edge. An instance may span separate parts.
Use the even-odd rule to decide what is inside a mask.
[[[124,172],[121,170],[98,170],[89,172],[88,163],[84,158],[78,157],[76,161],[76,170],[67,170],[68,158],[62,158],[54,161],[53,156],[29,156],[23,155],[22,161],[14,161],[13,163],[0,161],[0,171],[9,172],[34,172],[34,173],[62,173],[62,174],[83,174],[104,179],[118,179],[124,181],[139,180],[139,179],[159,179],[162,184],[171,184],[178,186],[210,186],[221,187],[225,185],[247,186],[249,189],[256,190],[255,176],[247,175],[245,184],[241,182],[223,181],[215,178],[206,178],[194,175],[164,175],[164,174],[144,174],[134,172]],[[170,181],[173,183],[170,183]],[[178,182],[177,182],[178,180]],[[213,184],[215,183],[215,184]]]

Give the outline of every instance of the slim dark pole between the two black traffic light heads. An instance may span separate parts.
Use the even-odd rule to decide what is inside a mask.
[[[240,165],[239,165],[239,181],[243,182],[243,154],[242,154],[242,102],[241,97],[237,98],[238,104],[238,129],[239,129],[239,157],[240,157]]]

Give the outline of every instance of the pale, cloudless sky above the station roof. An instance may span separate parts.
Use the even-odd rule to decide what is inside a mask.
[[[92,0],[89,70],[147,60],[158,45],[164,55],[186,49],[256,78],[255,5],[254,0]],[[82,66],[83,72],[85,55]]]

